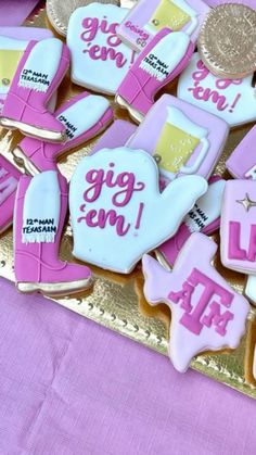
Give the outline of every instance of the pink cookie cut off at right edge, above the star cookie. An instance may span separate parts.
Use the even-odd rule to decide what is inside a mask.
[[[256,126],[238,144],[226,162],[226,167],[235,178],[256,180]]]

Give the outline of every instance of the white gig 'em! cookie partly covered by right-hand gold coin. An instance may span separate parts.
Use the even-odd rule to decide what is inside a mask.
[[[230,127],[256,119],[253,75],[243,79],[218,78],[195,53],[178,83],[178,98],[225,119]]]

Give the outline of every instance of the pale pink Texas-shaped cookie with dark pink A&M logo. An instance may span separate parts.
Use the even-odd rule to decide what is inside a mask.
[[[180,372],[203,351],[238,347],[245,331],[249,305],[210,265],[216,250],[213,240],[196,232],[172,271],[143,256],[146,300],[152,305],[164,302],[171,309],[169,356]]]

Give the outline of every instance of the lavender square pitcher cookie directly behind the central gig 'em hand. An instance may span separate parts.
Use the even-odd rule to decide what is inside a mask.
[[[192,174],[208,178],[228,132],[229,127],[221,118],[163,94],[127,146],[153,155],[166,181]]]

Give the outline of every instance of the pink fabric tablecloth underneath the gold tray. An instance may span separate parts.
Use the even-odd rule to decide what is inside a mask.
[[[33,3],[2,0],[0,25],[20,24]],[[253,400],[179,375],[166,357],[0,279],[1,455],[253,455],[255,446]]]

